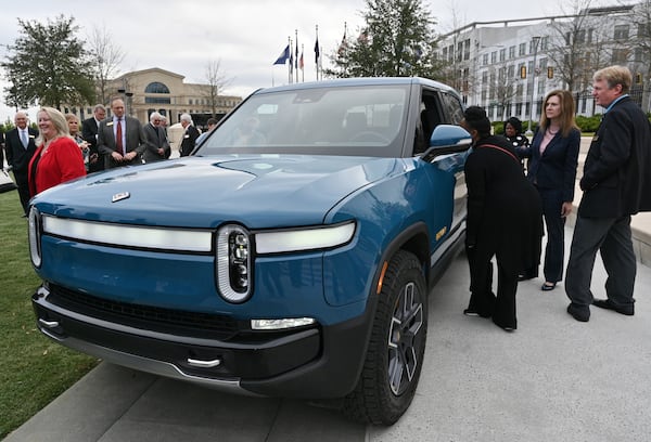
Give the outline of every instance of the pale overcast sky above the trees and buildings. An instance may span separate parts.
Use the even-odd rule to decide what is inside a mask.
[[[437,34],[454,29],[455,24],[538,17],[559,11],[558,3],[542,1],[424,3],[431,5],[438,22]],[[273,62],[296,31],[298,47],[304,46],[305,51],[305,80],[314,80],[316,25],[321,52],[330,54],[342,40],[344,23],[349,35],[357,36],[365,6],[363,0],[12,1],[2,5],[0,14],[0,54],[4,57],[5,46],[18,36],[18,17],[44,24],[60,14],[72,15],[81,38],[93,28],[114,32],[114,44],[125,53],[119,74],[159,67],[184,76],[186,82],[205,82],[207,63],[219,60],[222,74],[231,79],[226,93],[246,96],[257,88],[288,82],[286,67],[273,66]],[[7,83],[2,80],[0,86],[0,120],[4,121],[13,119],[14,109],[4,106]]]

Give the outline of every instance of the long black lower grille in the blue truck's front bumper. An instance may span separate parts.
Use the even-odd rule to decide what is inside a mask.
[[[80,314],[161,333],[219,340],[238,333],[238,322],[225,315],[112,301],[54,284],[50,284],[48,299]]]

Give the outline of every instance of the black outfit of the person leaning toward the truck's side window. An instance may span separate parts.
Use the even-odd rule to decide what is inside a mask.
[[[514,148],[503,136],[475,143],[465,161],[467,251],[471,274],[469,311],[505,328],[516,328],[518,275],[540,261],[542,209],[524,177]],[[498,268],[497,297],[492,289]]]

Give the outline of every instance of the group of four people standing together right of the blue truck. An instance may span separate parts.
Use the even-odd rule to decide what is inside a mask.
[[[589,321],[590,306],[635,314],[630,217],[651,210],[651,125],[628,95],[631,82],[630,70],[622,66],[600,69],[592,78],[595,102],[604,112],[579,181],[583,197],[565,270],[567,313],[579,322]],[[465,109],[461,125],[473,150],[465,162],[471,296],[464,314],[492,317],[509,332],[516,328],[518,281],[538,275],[544,233],[540,288],[553,290],[562,281],[564,225],[573,210],[580,145],[574,106],[569,91],[549,92],[531,143],[518,118],[506,122],[505,136],[490,135],[485,110]],[[598,251],[608,274],[605,299],[596,299],[590,288]]]

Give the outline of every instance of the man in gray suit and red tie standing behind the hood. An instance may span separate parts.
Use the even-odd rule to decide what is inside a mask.
[[[125,116],[125,102],[111,101],[113,116],[102,120],[98,128],[98,152],[104,156],[104,168],[141,165],[146,138],[140,121]]]

